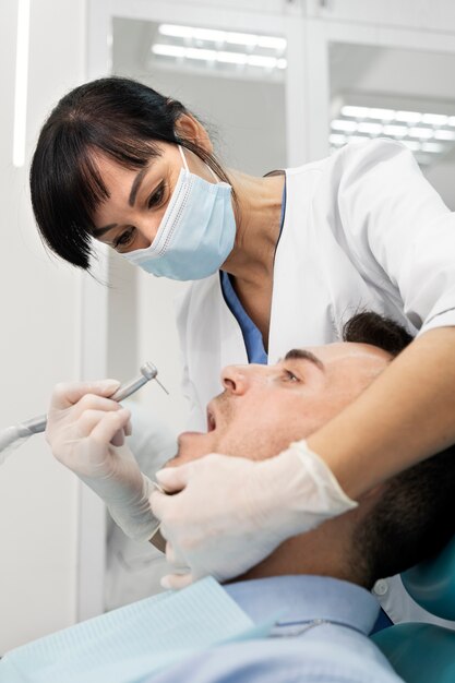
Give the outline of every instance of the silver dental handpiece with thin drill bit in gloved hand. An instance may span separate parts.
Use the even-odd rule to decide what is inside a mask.
[[[167,388],[163,386],[163,384],[157,379],[158,370],[156,366],[147,361],[143,366],[141,366],[140,372],[140,375],[137,375],[130,382],[125,382],[124,384],[119,386],[117,392],[115,392],[109,398],[120,403],[121,400],[124,400],[125,398],[134,394],[134,392],[140,390],[141,386],[144,386],[144,384],[146,384],[151,380],[155,380],[163,388],[163,391],[165,391],[166,394],[169,394]],[[41,415],[39,417],[32,418],[31,420],[25,420],[24,422],[15,424],[14,427],[8,427],[5,430],[0,431],[0,453],[14,444],[14,442],[16,441],[20,442],[21,440],[27,439],[32,434],[39,434],[40,432],[44,432],[46,430],[46,424],[47,416]]]

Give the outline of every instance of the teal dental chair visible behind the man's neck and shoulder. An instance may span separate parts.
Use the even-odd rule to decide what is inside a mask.
[[[455,538],[435,558],[402,574],[411,598],[442,619],[455,620]],[[404,623],[372,636],[406,683],[455,682],[455,631]]]

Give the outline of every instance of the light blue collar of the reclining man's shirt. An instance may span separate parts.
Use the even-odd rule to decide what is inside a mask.
[[[328,576],[273,576],[224,588],[255,623],[278,614],[280,625],[323,620],[368,635],[380,609],[366,588]]]

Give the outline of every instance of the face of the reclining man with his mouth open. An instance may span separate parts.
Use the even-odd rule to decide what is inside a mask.
[[[171,465],[208,453],[265,459],[335,417],[380,374],[391,356],[366,344],[290,351],[276,366],[229,366],[207,407],[207,432],[184,432]]]

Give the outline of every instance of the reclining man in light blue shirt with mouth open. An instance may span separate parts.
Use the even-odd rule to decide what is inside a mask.
[[[344,338],[290,350],[276,366],[226,368],[225,392],[207,409],[207,433],[181,434],[169,464],[191,467],[212,452],[274,456],[352,402],[410,342],[374,313],[355,316]],[[225,587],[255,622],[282,614],[273,637],[212,648],[153,680],[398,681],[367,637],[379,613],[370,589],[438,552],[455,532],[452,451],[378,487],[356,510],[284,542]]]

